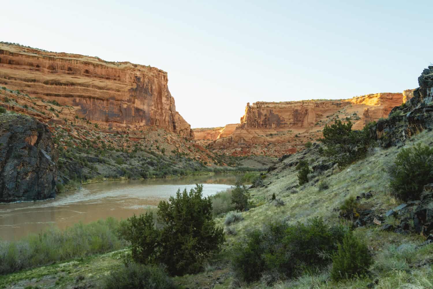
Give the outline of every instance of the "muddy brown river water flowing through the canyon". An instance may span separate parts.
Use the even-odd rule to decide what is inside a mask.
[[[57,195],[54,200],[0,205],[0,240],[16,240],[39,233],[50,225],[61,229],[82,221],[114,217],[126,219],[141,214],[159,201],[204,184],[203,195],[229,188],[236,175],[211,175],[170,179],[102,182]]]

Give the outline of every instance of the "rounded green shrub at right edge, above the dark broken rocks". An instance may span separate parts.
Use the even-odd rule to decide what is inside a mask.
[[[419,200],[423,186],[433,182],[433,148],[402,149],[388,171],[391,192],[403,201]]]

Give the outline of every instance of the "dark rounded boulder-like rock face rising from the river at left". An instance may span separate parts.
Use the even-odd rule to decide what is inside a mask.
[[[46,125],[17,114],[0,120],[0,202],[54,198],[57,156]]]

